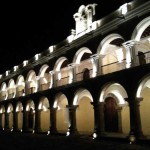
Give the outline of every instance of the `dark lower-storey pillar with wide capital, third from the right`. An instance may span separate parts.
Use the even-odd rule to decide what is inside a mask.
[[[68,129],[68,135],[75,135],[77,134],[77,128],[76,128],[76,109],[78,105],[72,105],[72,106],[66,106],[69,110],[69,129]]]

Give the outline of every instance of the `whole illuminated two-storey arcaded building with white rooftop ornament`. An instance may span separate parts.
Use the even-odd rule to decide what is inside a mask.
[[[1,132],[149,138],[150,1],[100,20],[96,7],[80,6],[71,35],[0,76]]]

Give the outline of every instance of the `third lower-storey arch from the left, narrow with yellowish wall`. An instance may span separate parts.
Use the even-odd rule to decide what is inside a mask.
[[[23,128],[23,105],[20,101],[17,102],[15,111],[17,129],[21,131]]]

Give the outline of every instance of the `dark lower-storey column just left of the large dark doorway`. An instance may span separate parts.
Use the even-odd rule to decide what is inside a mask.
[[[105,102],[91,102],[94,109],[94,133],[101,136],[105,132],[104,104]]]

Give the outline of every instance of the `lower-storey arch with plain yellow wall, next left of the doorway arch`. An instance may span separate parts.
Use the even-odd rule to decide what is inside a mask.
[[[91,102],[93,102],[93,97],[87,89],[77,90],[73,105],[78,106],[76,122],[80,134],[91,134],[94,130],[94,109]]]

